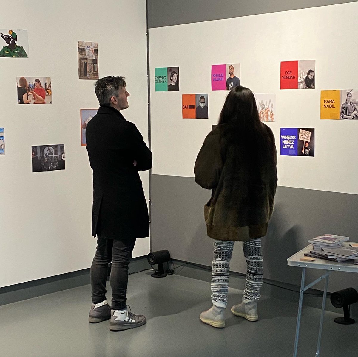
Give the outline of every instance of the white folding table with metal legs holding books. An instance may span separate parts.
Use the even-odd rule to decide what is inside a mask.
[[[344,242],[342,245],[344,247],[349,247],[349,243],[352,243],[352,242]],[[317,350],[316,350],[316,354],[315,354],[316,357],[319,357],[320,343],[321,343],[321,336],[322,336],[322,327],[323,327],[324,308],[325,308],[326,296],[327,296],[328,277],[329,277],[330,273],[332,273],[333,271],[358,273],[358,265],[353,264],[352,261],[338,263],[338,262],[333,262],[333,261],[319,259],[319,258],[316,258],[316,260],[313,262],[300,261],[300,258],[304,257],[304,253],[309,253],[311,250],[313,250],[313,246],[312,246],[312,244],[309,244],[309,246],[301,249],[299,252],[297,252],[296,254],[294,254],[293,256],[291,256],[290,258],[287,259],[287,265],[302,268],[300,299],[299,299],[299,304],[298,304],[296,336],[295,336],[295,346],[294,346],[293,357],[297,356],[297,347],[298,347],[301,313],[302,313],[303,293],[307,289],[313,287],[315,284],[320,282],[321,280],[326,279],[325,284],[324,284],[324,291],[323,291],[322,311],[321,311],[321,320],[320,320],[320,324],[319,324]],[[306,268],[323,269],[326,272],[324,274],[322,274],[319,278],[317,278],[315,281],[313,281],[310,284],[305,286]]]

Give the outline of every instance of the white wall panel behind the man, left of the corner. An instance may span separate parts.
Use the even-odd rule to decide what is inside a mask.
[[[98,42],[100,77],[126,77],[130,108],[123,114],[148,142],[145,0],[11,6],[16,15],[1,11],[0,27],[28,30],[29,58],[0,58],[0,287],[92,263],[92,170],[81,147],[80,109],[98,108],[98,101],[95,80],[78,79],[77,41]],[[17,105],[16,76],[50,76],[52,104]],[[32,173],[31,146],[45,144],[64,144],[65,170]],[[148,198],[149,173],[141,178]],[[148,252],[149,238],[138,239],[133,256]]]

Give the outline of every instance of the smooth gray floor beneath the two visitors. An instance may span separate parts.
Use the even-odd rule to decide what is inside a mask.
[[[241,301],[241,290],[229,288],[229,305]],[[110,300],[108,282],[108,295]],[[1,357],[62,356],[292,356],[297,301],[262,296],[259,321],[249,322],[226,310],[226,327],[213,328],[199,320],[211,306],[210,285],[173,275],[152,278],[150,272],[129,277],[128,300],[146,325],[110,332],[109,322],[88,323],[89,285],[0,307]],[[321,356],[357,357],[358,323],[333,322],[327,311]],[[315,356],[320,310],[304,306],[298,356]]]

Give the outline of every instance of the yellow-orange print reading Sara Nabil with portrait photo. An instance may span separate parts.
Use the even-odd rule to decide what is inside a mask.
[[[358,120],[358,89],[321,90],[321,119]]]

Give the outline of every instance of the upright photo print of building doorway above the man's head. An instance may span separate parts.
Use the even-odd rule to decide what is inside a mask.
[[[77,42],[78,79],[98,79],[98,43]]]

